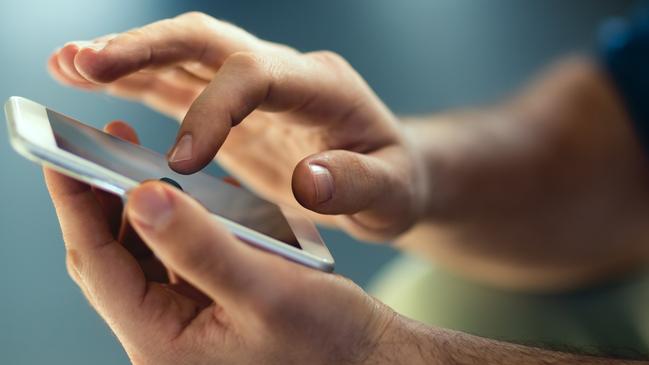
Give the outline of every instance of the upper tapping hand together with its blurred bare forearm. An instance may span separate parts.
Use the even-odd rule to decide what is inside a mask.
[[[417,223],[401,242],[479,280],[569,288],[649,257],[647,160],[589,62],[556,67],[501,105],[403,125],[339,57],[299,54],[195,13],[69,44],[50,68],[69,85],[179,118],[188,111],[179,136],[191,133],[192,158],[180,149],[171,163],[182,172],[207,163],[247,116],[217,155],[244,183],[340,214],[315,218],[360,238]],[[327,171],[334,188],[318,195]],[[319,203],[323,192],[333,194]]]

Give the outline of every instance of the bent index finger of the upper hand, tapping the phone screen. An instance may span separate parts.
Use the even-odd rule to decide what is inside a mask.
[[[379,114],[383,109],[367,107],[372,95],[342,57],[331,52],[236,53],[187,111],[169,154],[169,166],[182,174],[204,168],[230,129],[256,109],[302,113],[307,117],[295,120],[329,124],[330,131],[343,130],[333,124],[344,126],[348,120],[370,125],[386,118]],[[327,147],[344,147],[331,144],[333,140],[327,139]],[[385,143],[377,141],[368,150]]]

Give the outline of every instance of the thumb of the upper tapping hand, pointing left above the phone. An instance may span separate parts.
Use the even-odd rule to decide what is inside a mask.
[[[333,150],[300,161],[292,187],[305,208],[353,215],[356,223],[376,231],[395,228],[395,217],[413,210],[410,176],[408,163],[395,148],[372,154]]]

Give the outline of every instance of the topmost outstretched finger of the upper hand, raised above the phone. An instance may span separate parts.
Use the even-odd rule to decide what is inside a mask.
[[[90,81],[108,83],[142,69],[195,61],[209,79],[228,55],[252,50],[258,42],[241,28],[191,12],[86,44],[74,67]]]

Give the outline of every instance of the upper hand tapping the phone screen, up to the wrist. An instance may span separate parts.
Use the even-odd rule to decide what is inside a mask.
[[[184,118],[173,169],[195,172],[218,151],[261,195],[299,202],[357,237],[405,231],[426,202],[425,174],[396,118],[333,53],[299,53],[188,13],[68,43],[49,68],[67,85]]]

